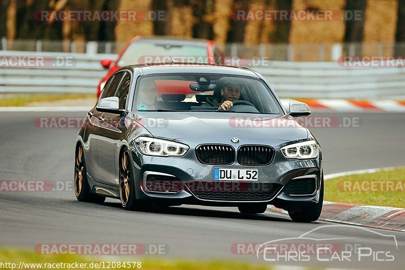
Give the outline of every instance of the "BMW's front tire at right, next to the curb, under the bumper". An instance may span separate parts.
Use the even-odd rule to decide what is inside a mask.
[[[300,211],[288,211],[294,222],[312,222],[318,220],[323,206],[323,174],[320,179],[319,201],[314,205],[304,206]]]

